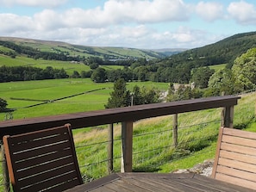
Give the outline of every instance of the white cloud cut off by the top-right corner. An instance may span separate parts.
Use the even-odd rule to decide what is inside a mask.
[[[244,1],[230,3],[228,13],[240,24],[256,24],[256,8],[253,4]]]

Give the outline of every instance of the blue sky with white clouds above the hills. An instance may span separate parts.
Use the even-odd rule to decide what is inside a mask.
[[[194,48],[256,31],[255,0],[0,0],[0,36]]]

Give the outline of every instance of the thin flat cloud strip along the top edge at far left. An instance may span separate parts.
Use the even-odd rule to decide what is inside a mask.
[[[29,7],[45,7],[45,8],[55,8],[64,3],[67,0],[0,0],[0,4],[5,6],[29,6]]]

